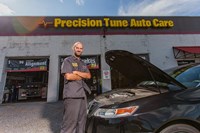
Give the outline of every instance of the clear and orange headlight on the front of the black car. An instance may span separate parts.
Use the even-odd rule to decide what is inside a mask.
[[[117,117],[124,117],[124,116],[130,116],[136,110],[139,108],[139,106],[130,106],[125,108],[116,108],[116,109],[104,109],[99,108],[94,115],[102,118],[117,118]]]

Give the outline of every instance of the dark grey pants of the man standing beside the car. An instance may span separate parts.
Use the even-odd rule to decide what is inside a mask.
[[[65,98],[61,133],[85,133],[86,98]]]

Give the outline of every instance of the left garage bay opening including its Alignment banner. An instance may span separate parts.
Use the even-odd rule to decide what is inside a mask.
[[[48,59],[8,59],[3,103],[46,101]]]

